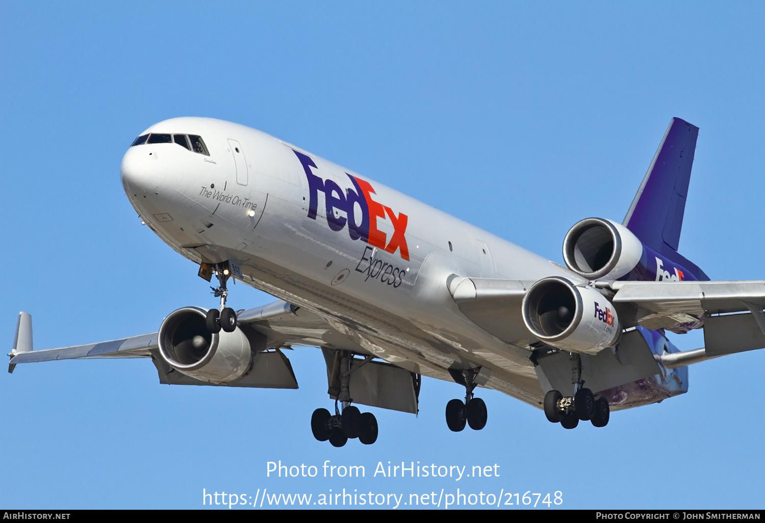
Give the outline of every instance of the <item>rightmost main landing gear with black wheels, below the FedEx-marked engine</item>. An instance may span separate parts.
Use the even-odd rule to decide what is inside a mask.
[[[575,428],[580,420],[589,420],[595,427],[605,427],[610,416],[608,400],[584,388],[581,357],[575,352],[571,352],[571,369],[574,396],[564,397],[559,391],[549,391],[545,394],[545,416],[552,423],[560,423],[567,429]]]

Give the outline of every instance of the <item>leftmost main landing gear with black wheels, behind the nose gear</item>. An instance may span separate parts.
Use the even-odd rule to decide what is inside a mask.
[[[375,415],[371,412],[362,413],[351,404],[353,399],[350,397],[350,373],[372,358],[373,356],[367,356],[360,364],[353,365],[351,352],[337,351],[333,376],[330,377],[330,390],[335,383],[339,383],[337,399],[335,400],[335,413],[334,415],[330,414],[326,408],[317,408],[314,411],[311,416],[311,432],[314,433],[317,440],[329,440],[333,447],[343,447],[348,440],[356,437],[365,445],[371,445],[377,440]],[[338,408],[338,403],[343,406],[342,414]]]

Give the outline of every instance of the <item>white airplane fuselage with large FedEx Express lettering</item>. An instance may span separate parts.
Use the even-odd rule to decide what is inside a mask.
[[[209,152],[146,143],[122,160],[129,200],[177,252],[231,261],[240,281],[320,314],[395,365],[443,379],[447,369],[481,366],[484,386],[539,407],[535,339],[521,311],[499,339],[461,313],[448,279],[582,281],[577,274],[243,125],[178,118],[146,133],[198,135]]]

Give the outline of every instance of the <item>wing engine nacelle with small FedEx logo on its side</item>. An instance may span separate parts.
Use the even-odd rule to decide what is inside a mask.
[[[529,287],[521,307],[532,334],[558,349],[597,354],[619,341],[616,310],[592,287],[575,287],[558,276],[542,278]]]

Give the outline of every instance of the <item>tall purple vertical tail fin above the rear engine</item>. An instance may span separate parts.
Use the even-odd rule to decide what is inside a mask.
[[[696,138],[695,125],[679,118],[669,122],[623,225],[646,247],[679,261],[699,280],[708,280],[701,269],[677,252]]]

